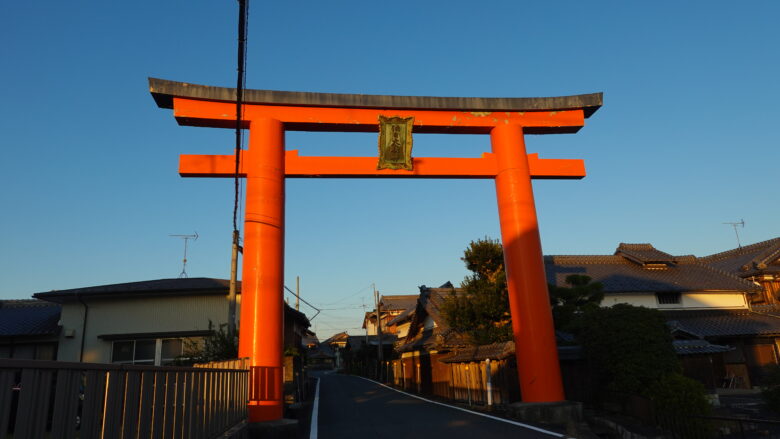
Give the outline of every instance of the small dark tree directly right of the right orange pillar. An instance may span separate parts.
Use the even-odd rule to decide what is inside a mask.
[[[549,285],[550,304],[552,305],[555,329],[579,332],[579,316],[601,306],[604,299],[604,286],[601,282],[591,282],[590,276],[570,274],[566,276],[570,287]]]

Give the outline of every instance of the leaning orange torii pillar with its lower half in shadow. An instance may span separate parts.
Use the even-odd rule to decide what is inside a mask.
[[[563,401],[523,128],[496,126],[490,141],[498,163],[498,216],[523,402]]]

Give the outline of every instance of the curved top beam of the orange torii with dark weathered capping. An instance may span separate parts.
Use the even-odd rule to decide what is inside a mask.
[[[182,125],[234,127],[235,89],[149,78],[157,105]],[[518,124],[526,134],[572,133],[598,110],[602,93],[541,98],[468,98],[245,90],[244,118],[273,118],[286,130],[375,132],[377,117],[413,116],[416,133],[487,134]]]

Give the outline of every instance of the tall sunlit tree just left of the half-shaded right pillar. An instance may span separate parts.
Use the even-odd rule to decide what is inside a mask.
[[[511,340],[512,322],[501,244],[487,237],[472,241],[461,259],[473,274],[461,283],[464,295],[453,294],[444,302],[442,314],[447,324],[475,344]]]

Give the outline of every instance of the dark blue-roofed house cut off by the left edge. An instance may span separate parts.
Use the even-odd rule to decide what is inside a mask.
[[[56,359],[60,309],[42,300],[0,300],[0,358]]]

